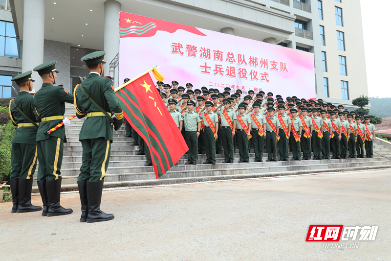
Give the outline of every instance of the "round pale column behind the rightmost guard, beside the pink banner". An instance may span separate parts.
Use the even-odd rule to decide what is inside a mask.
[[[104,76],[109,75],[109,63],[118,53],[119,46],[119,12],[121,11],[121,3],[115,0],[107,0],[105,2],[105,27],[104,27],[104,50],[105,55],[105,70]],[[115,69],[116,74],[118,68]],[[115,79],[118,82],[118,79]]]

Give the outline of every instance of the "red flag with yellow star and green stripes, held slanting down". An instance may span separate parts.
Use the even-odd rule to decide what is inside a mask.
[[[151,152],[156,178],[161,177],[189,150],[173,117],[158,94],[149,73],[116,92],[128,120]]]

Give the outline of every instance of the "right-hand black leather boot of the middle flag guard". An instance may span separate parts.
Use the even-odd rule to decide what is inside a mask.
[[[61,181],[61,176],[56,180],[46,180],[47,205],[49,206],[47,216],[67,215],[73,212],[60,205]]]

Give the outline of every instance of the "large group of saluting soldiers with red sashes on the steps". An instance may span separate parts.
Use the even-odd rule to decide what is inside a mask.
[[[127,81],[129,79],[125,79]],[[263,162],[266,146],[267,161],[277,161],[277,143],[280,161],[325,160],[373,157],[375,126],[366,116],[362,119],[354,111],[344,110],[322,99],[306,100],[296,96],[253,90],[242,95],[225,88],[193,90],[191,83],[186,89],[177,81],[170,84],[157,82],[156,88],[166,103],[170,114],[182,132],[189,147],[186,165],[195,165],[197,155],[206,153],[203,164],[216,164],[216,154],[224,151],[223,163],[233,163],[236,148],[239,148],[239,163],[249,162],[250,147],[254,147],[255,162]],[[127,122],[126,122],[127,123]],[[127,123],[127,136],[135,138]],[[312,157],[313,153],[313,157]],[[139,155],[147,155],[147,164],[152,166],[149,151],[140,144]]]

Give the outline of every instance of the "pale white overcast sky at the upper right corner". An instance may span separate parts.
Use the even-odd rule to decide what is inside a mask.
[[[369,97],[391,97],[391,0],[360,0]]]

